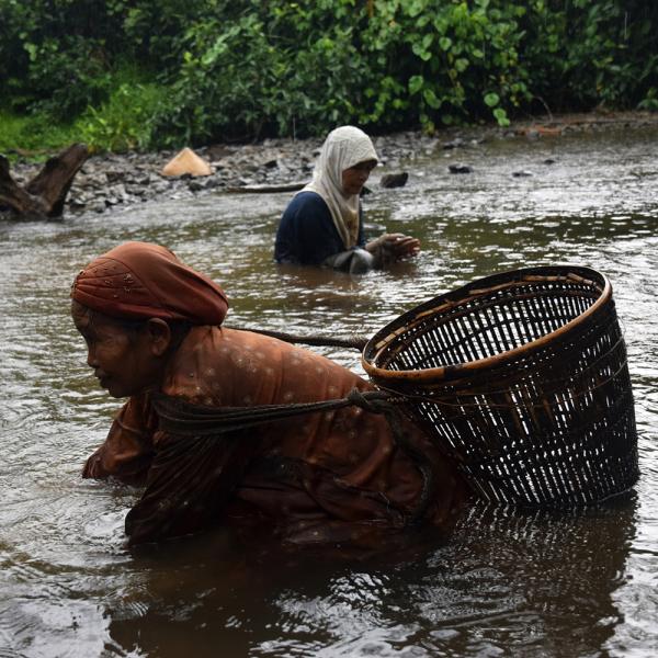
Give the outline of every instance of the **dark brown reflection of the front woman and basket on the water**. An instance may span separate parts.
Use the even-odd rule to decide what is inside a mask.
[[[624,581],[634,510],[624,501],[551,517],[477,504],[450,541],[426,537],[412,555],[367,565],[258,551],[218,559],[227,546],[207,537],[190,570],[190,547],[170,546],[143,565],[148,591],[113,611],[110,635],[175,656],[188,628],[200,656],[222,646],[281,657],[404,647],[413,656],[564,656],[568,635],[570,655],[587,655],[620,623],[611,594]]]

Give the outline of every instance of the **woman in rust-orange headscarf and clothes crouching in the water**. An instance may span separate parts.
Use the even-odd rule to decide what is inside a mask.
[[[128,398],[83,477],[146,485],[126,518],[131,544],[254,518],[293,542],[333,542],[411,520],[443,526],[461,509],[454,465],[406,417],[360,401],[367,382],[222,327],[222,288],[168,249],[112,249],[78,274],[71,297],[88,364]],[[361,406],[340,404],[348,396]],[[286,416],[305,404],[327,407]],[[262,405],[283,417],[254,422]]]

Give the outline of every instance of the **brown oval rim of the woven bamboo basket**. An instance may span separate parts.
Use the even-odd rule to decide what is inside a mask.
[[[483,288],[487,285],[489,285],[489,288],[486,292],[490,292],[496,287],[509,287],[510,284],[515,282],[523,283],[532,281],[533,277],[537,276],[555,280],[564,280],[569,277],[574,279],[574,276],[576,276],[579,280],[602,284],[602,291],[598,299],[587,310],[581,313],[572,320],[569,320],[558,329],[519,345],[518,348],[494,354],[492,356],[486,356],[484,359],[476,359],[474,361],[466,361],[463,363],[455,363],[440,367],[404,371],[392,371],[373,365],[366,356],[367,352],[374,349],[375,352],[372,361],[375,361],[382,350],[386,348],[399,333],[402,333],[404,330],[419,317],[419,315],[427,315],[428,313],[431,313],[431,310],[438,305],[441,305],[441,303],[443,303],[443,305],[456,305],[457,302],[463,302],[465,297],[472,297],[477,295],[477,293],[485,292]],[[466,283],[454,291],[438,295],[436,297],[415,306],[410,310],[398,316],[395,320],[390,321],[388,325],[377,331],[377,333],[375,333],[367,341],[361,352],[361,364],[370,377],[379,382],[388,379],[390,382],[396,381],[401,383],[405,381],[427,382],[455,378],[462,374],[478,372],[495,365],[513,361],[514,359],[542,349],[546,343],[555,340],[558,336],[563,336],[575,330],[581,322],[586,321],[590,316],[595,314],[601,306],[606,304],[611,297],[612,284],[610,283],[608,276],[594,270],[593,268],[585,265],[536,265],[490,274],[488,276],[476,279],[469,283]],[[397,327],[397,329],[395,329],[394,326]]]

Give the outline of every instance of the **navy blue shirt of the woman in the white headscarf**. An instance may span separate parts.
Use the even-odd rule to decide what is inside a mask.
[[[356,247],[363,248],[363,215],[359,207],[359,238]],[[345,246],[331,219],[329,206],[315,192],[300,192],[285,208],[274,245],[274,259],[280,263],[320,265]]]

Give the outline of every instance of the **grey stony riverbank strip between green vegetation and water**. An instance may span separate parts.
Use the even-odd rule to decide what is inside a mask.
[[[658,125],[658,113],[594,113],[544,116],[512,126],[441,131],[434,136],[404,132],[374,136],[381,166],[371,179],[375,190],[386,173],[413,171],[415,160],[445,151],[446,167],[468,172],[480,163],[479,150],[491,140],[558,139],[575,132],[642,128]],[[166,177],[161,170],[177,151],[92,156],[77,174],[65,207],[67,214],[107,213],[148,201],[195,198],[208,193],[256,185],[291,185],[310,179],[321,139],[266,139],[259,144],[219,144],[195,149],[211,164],[207,177]],[[181,148],[185,145],[181,145]],[[12,172],[30,180],[39,164],[19,160]],[[525,172],[517,172],[524,175]]]

